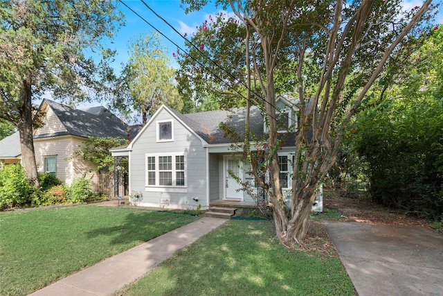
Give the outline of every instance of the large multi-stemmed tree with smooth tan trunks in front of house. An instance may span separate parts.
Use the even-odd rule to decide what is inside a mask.
[[[207,3],[183,2],[189,5],[188,11]],[[266,165],[254,160],[257,157],[250,147],[255,139],[251,137],[245,140],[245,156],[251,162],[255,182],[269,197],[278,238],[283,243],[301,243],[316,189],[336,162],[341,139],[349,129],[347,123],[377,78],[386,73],[390,57],[414,44],[417,26],[431,13],[431,0],[410,11],[403,11],[397,0],[216,3],[230,7],[244,26],[246,75],[237,79],[244,79],[243,85],[248,86],[247,107],[261,107],[269,128],[261,151],[266,155]],[[229,57],[230,51],[224,55]],[[298,99],[300,122],[294,136],[291,205],[287,210],[277,157],[284,139],[277,132],[275,99],[281,90],[276,73],[289,71],[296,78],[293,93]],[[251,87],[252,78],[260,92]]]

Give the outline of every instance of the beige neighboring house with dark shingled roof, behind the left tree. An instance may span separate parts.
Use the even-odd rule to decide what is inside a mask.
[[[98,174],[91,172],[91,164],[82,157],[72,158],[89,136],[127,139],[129,126],[105,107],[77,110],[45,99],[39,106],[42,126],[34,130],[37,171],[52,173],[62,182],[71,184],[75,177],[86,173],[92,184],[98,185]],[[19,132],[0,141],[0,162],[20,162]]]

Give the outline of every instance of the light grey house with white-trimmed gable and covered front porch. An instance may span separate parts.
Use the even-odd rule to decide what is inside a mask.
[[[280,116],[282,125],[296,128],[296,105],[280,96],[276,107],[285,115]],[[219,127],[221,122],[228,123],[243,137],[245,117],[244,108],[180,114],[162,105],[128,146],[111,149],[111,153],[118,158],[128,157],[129,192],[141,196],[138,205],[208,209],[211,201],[219,199],[253,202],[253,197],[239,190],[241,186],[229,173],[252,184],[250,165],[237,165],[233,154],[239,151]],[[258,107],[251,107],[250,126],[257,139],[266,134]],[[291,190],[293,141],[295,137],[288,137],[278,153],[286,196]]]

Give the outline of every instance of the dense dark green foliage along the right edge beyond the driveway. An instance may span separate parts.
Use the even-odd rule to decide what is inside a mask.
[[[354,123],[372,198],[437,220],[443,215],[442,51],[443,30],[433,28],[401,79],[383,92],[386,100]]]

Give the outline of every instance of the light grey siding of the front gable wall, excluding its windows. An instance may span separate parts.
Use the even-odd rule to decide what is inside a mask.
[[[156,142],[156,121],[173,121],[174,141]],[[150,187],[146,184],[146,155],[162,153],[184,153],[186,163],[186,188]],[[129,155],[129,193],[141,192],[143,199],[137,204],[144,207],[170,209],[193,209],[199,204],[207,209],[206,203],[206,150],[201,140],[174,119],[166,110],[161,110],[132,143]],[[179,192],[177,192],[179,191]],[[193,198],[198,199],[195,201]]]

